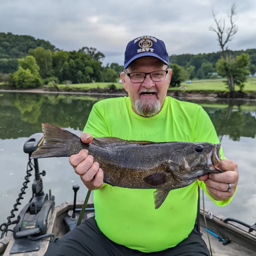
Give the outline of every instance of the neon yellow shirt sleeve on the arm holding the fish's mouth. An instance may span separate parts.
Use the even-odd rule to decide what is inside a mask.
[[[214,144],[220,143],[217,132],[215,130],[215,127],[214,127],[209,115],[201,106],[200,106],[195,118],[196,118],[196,123],[195,123],[195,129],[194,129],[194,141],[195,142],[209,142],[209,143],[214,143]],[[226,158],[224,156],[222,146],[220,148],[220,155],[221,155],[221,159]],[[213,199],[207,193],[206,185],[203,181],[197,180],[197,182],[198,182],[199,187],[201,187],[204,190],[204,192],[206,193],[206,195],[218,206],[225,206],[225,205],[229,204],[237,191],[237,188],[236,188],[236,191],[232,197],[230,197],[226,200],[217,201],[217,200]]]

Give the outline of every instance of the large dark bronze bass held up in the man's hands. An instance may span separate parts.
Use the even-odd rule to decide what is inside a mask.
[[[156,189],[158,209],[170,190],[186,187],[207,173],[222,173],[221,144],[208,142],[152,142],[93,137],[83,143],[77,135],[49,123],[42,123],[44,143],[33,158],[69,157],[87,149],[103,170],[103,182],[112,186]]]

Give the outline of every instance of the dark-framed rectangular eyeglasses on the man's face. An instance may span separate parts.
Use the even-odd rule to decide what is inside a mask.
[[[128,73],[125,70],[125,73],[127,74],[127,76],[130,77],[130,80],[131,80],[132,83],[143,83],[147,74],[150,75],[150,78],[152,79],[152,81],[161,82],[166,78],[166,74],[168,73],[168,69],[167,70],[153,71],[153,72],[149,72],[149,73],[143,73],[143,72]]]

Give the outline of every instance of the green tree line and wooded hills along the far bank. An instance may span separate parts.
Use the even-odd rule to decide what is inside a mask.
[[[248,74],[256,72],[256,49],[231,51],[234,83],[242,89]],[[123,66],[118,63],[102,65],[105,55],[92,47],[78,51],[63,51],[49,41],[32,36],[0,33],[0,82],[19,87],[36,87],[56,83],[116,82]],[[173,69],[171,87],[194,78],[226,76],[227,62],[223,53],[182,54],[169,56]]]

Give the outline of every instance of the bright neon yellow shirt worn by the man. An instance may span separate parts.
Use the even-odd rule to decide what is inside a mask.
[[[161,111],[150,118],[137,115],[129,97],[101,100],[93,105],[84,132],[125,140],[219,143],[215,128],[200,105],[170,97],[166,97]],[[223,158],[222,149],[220,154]],[[106,237],[128,248],[156,252],[174,247],[194,228],[198,184],[206,192],[204,182],[197,180],[171,190],[158,209],[154,207],[155,189],[106,184],[93,192],[95,220]],[[211,198],[219,206],[227,205],[231,199]]]

